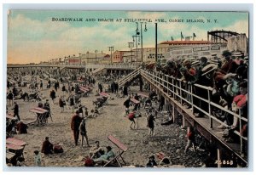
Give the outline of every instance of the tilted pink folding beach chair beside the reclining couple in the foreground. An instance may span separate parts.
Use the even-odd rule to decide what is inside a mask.
[[[119,158],[124,162],[124,165],[126,165],[122,155],[128,150],[128,148],[125,146],[125,144],[122,144],[118,138],[114,138],[112,135],[108,136],[108,139],[119,148],[120,152],[117,155],[115,155],[113,159],[109,160],[103,167],[108,166],[113,161],[117,161],[119,164],[119,167],[122,167],[121,162],[119,161]]]

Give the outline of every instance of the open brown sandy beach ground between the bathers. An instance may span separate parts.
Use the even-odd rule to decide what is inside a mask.
[[[41,93],[49,99],[49,91],[44,89]],[[62,84],[61,86],[62,87]],[[138,87],[131,87],[130,93],[138,92]],[[81,98],[89,111],[94,109],[92,101],[96,99],[96,88],[89,94],[89,97]],[[148,92],[143,92],[148,93]],[[142,117],[138,119],[138,129],[131,129],[131,121],[125,117],[125,106],[123,105],[126,98],[116,98],[115,94],[109,93],[113,100],[108,99],[108,105],[105,105],[102,112],[96,118],[88,118],[86,120],[87,134],[90,145],[94,145],[96,140],[100,141],[102,146],[112,146],[114,152],[118,148],[108,140],[109,135],[119,138],[119,141],[128,147],[128,150],[123,154],[127,166],[145,167],[148,162],[148,156],[158,152],[169,156],[172,164],[170,167],[201,167],[202,161],[207,153],[189,151],[186,155],[183,154],[186,145],[186,129],[177,124],[161,126],[163,120],[158,116],[155,122],[154,137],[148,135],[147,117],[145,110],[141,109]],[[56,96],[62,95],[61,89],[58,89]],[[67,97],[67,94],[66,94]],[[43,100],[43,103],[45,99]],[[29,125],[27,134],[15,134],[14,138],[25,141],[26,147],[24,157],[27,167],[34,166],[34,150],[41,150],[42,143],[46,136],[53,144],[60,143],[64,149],[61,154],[42,155],[45,167],[84,167],[84,156],[89,155],[90,147],[84,144],[81,147],[81,139],[79,145],[75,146],[73,141],[73,133],[70,127],[73,113],[70,109],[65,109],[61,113],[61,108],[58,104],[58,98],[55,99],[55,104],[49,99],[52,110],[52,119],[44,126]],[[20,118],[25,123],[35,121],[36,116],[29,109],[38,106],[38,102],[23,102],[22,99],[17,100],[20,105]],[[155,104],[154,104],[155,105]],[[9,106],[9,109],[11,107]],[[9,110],[10,112],[10,110]],[[156,158],[156,161],[159,162]]]

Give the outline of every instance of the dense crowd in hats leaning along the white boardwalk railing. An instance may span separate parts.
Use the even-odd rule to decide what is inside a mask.
[[[248,61],[245,55],[241,52],[231,53],[229,50],[224,50],[221,58],[216,54],[212,54],[212,58],[202,56],[198,59],[172,59],[166,62],[166,65],[155,65],[150,67],[145,65],[144,68],[148,71],[159,71],[160,75],[168,75],[168,82],[174,82],[174,85],[179,87],[181,81],[182,89],[189,91],[195,95],[191,96],[189,93],[180,91],[176,87],[171,87],[172,91],[181,95],[184,102],[183,105],[188,109],[193,107],[193,112],[196,117],[204,117],[211,114],[223,121],[219,127],[232,127],[238,130],[240,123],[235,115],[230,114],[224,110],[219,110],[217,107],[211,105],[210,111],[208,100],[215,104],[220,104],[224,109],[240,114],[242,117],[247,118],[247,86],[248,86]],[[161,80],[160,80],[161,82]],[[166,82],[163,82],[166,84]],[[207,88],[198,86],[210,87],[213,90],[208,95]],[[192,87],[192,88],[191,88]],[[164,88],[166,91],[166,88]],[[177,98],[175,94],[174,98]],[[206,101],[202,100],[206,99]],[[191,105],[193,101],[193,106]],[[199,107],[201,110],[195,108]],[[242,127],[247,127],[247,122],[241,122]]]

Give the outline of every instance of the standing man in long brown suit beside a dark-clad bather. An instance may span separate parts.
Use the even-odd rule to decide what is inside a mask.
[[[82,118],[79,116],[79,110],[77,110],[71,120],[71,129],[73,131],[73,138],[76,146],[79,143],[79,127],[81,121]]]

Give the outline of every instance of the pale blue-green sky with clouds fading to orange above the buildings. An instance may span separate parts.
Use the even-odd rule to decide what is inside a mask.
[[[83,21],[52,21],[52,18],[82,18]],[[95,21],[86,21],[91,19]],[[113,19],[113,22],[98,19]],[[154,47],[156,22],[158,42],[171,41],[171,37],[180,41],[181,32],[183,37],[195,33],[195,40],[207,40],[207,31],[221,29],[246,33],[248,37],[248,14],[244,12],[12,10],[8,21],[8,63],[38,63],[95,50],[109,54],[109,46],[114,50],[130,50],[128,42],[132,42],[137,24],[125,19],[151,20],[147,22],[148,31],[143,31],[143,47]],[[144,27],[145,23],[143,30]]]

